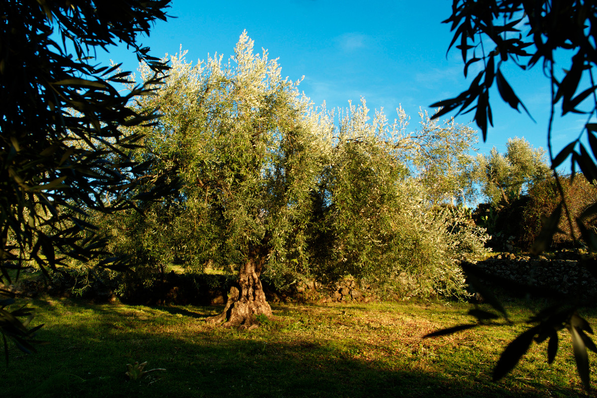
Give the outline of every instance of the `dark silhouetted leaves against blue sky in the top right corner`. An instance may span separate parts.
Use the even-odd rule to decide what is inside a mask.
[[[490,105],[482,97],[494,82],[504,102],[516,110],[522,106],[528,114],[515,90],[501,73],[500,64],[512,61],[522,70],[527,70],[543,58],[546,62],[544,70],[547,73],[550,70],[549,63],[552,62],[553,52],[564,48],[573,50],[574,55],[570,69],[564,70],[564,78],[558,80],[556,76],[549,76],[557,88],[553,103],[562,99],[562,114],[586,113],[587,111],[578,110],[577,106],[594,92],[595,87],[589,85],[576,97],[574,94],[582,84],[587,69],[597,61],[597,53],[592,44],[595,29],[585,29],[586,26],[594,26],[597,22],[596,7],[592,2],[556,2],[549,3],[548,6],[544,2],[522,0],[454,0],[452,15],[444,21],[451,24],[451,30],[454,32],[448,51],[456,42],[460,42],[457,48],[462,56],[464,76],[467,76],[470,66],[482,63],[480,74],[485,74],[485,80],[480,86],[478,82],[473,82],[458,97],[439,101],[432,106],[447,107],[448,110],[441,115],[458,107],[458,113],[463,113],[470,103],[477,100],[478,110],[474,120],[481,128],[485,140],[488,124],[491,124],[491,115],[488,112]],[[519,29],[521,25],[524,26],[522,30]],[[481,45],[482,41],[485,41],[484,45]],[[488,42],[493,42],[495,47],[487,48]],[[500,61],[494,65],[496,54],[500,54]]]

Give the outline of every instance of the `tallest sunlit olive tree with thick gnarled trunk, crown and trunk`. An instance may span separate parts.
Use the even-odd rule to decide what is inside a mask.
[[[168,207],[173,250],[196,269],[235,269],[238,283],[211,322],[250,326],[272,313],[260,276],[282,277],[306,261],[310,192],[321,169],[327,122],[282,78],[276,60],[242,33],[227,63],[192,65],[185,53],[140,109],[158,106],[158,124],[141,128],[158,174],[173,171],[180,192]],[[150,76],[142,67],[141,76]],[[170,239],[170,238],[168,238]]]

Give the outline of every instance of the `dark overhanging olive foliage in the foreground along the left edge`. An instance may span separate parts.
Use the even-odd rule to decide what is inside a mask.
[[[67,258],[105,254],[105,241],[85,219],[90,210],[131,205],[127,199],[146,164],[128,155],[141,135],[125,136],[121,128],[155,121],[153,110],[136,112],[128,104],[160,78],[121,94],[115,86],[128,82],[130,73],[94,64],[94,50],[125,43],[155,74],[164,72],[167,66],[137,38],[167,18],[168,2],[1,2],[2,281],[14,277],[9,270],[18,277],[25,267],[45,270]],[[30,351],[29,321],[17,318],[29,313],[9,311],[12,301],[0,302],[1,331]]]

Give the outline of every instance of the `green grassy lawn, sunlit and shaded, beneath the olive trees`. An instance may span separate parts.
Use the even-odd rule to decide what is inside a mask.
[[[10,350],[5,397],[503,397],[584,396],[570,338],[547,365],[533,345],[512,374],[491,381],[504,344],[525,326],[491,327],[421,340],[469,322],[467,304],[278,305],[251,331],[206,325],[220,307],[143,307],[33,300],[33,325],[50,342]],[[513,319],[530,312],[516,303]],[[595,313],[583,314],[595,322]],[[591,362],[595,354],[590,353]],[[155,371],[129,381],[126,364]]]

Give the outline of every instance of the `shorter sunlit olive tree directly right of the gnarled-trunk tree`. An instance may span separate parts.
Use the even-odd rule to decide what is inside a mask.
[[[325,153],[312,194],[311,271],[324,282],[350,275],[404,295],[463,297],[458,260],[481,255],[486,237],[466,217],[429,201],[421,181],[432,169],[421,177],[410,167],[424,164],[421,154],[439,150],[446,130],[408,132],[407,122],[401,109],[393,124],[383,112],[371,120],[364,100],[339,115],[333,150]],[[443,189],[436,193],[450,191]],[[464,223],[455,228],[454,221]]]

